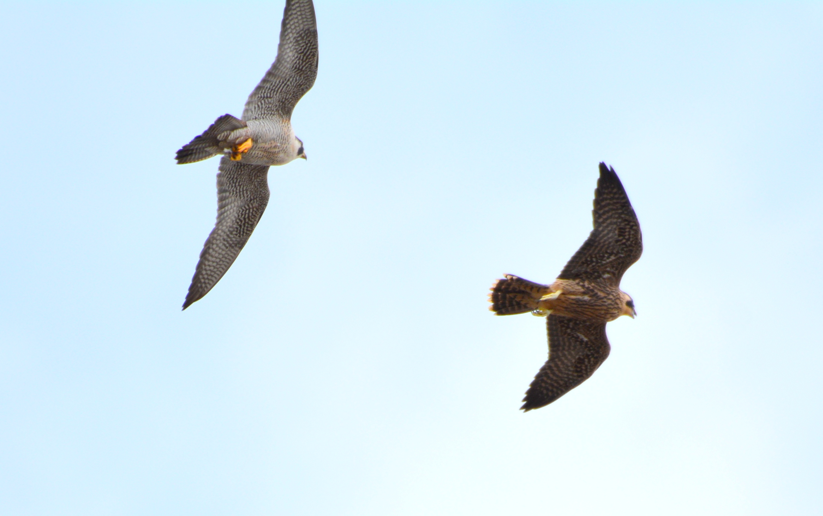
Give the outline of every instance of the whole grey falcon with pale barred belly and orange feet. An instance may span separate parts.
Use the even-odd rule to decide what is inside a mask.
[[[183,309],[226,274],[268,202],[268,167],[305,159],[291,112],[317,77],[317,24],[312,0],[286,0],[277,58],[246,101],[243,117],[224,114],[177,151],[178,164],[222,155],[217,221],[200,253]]]

